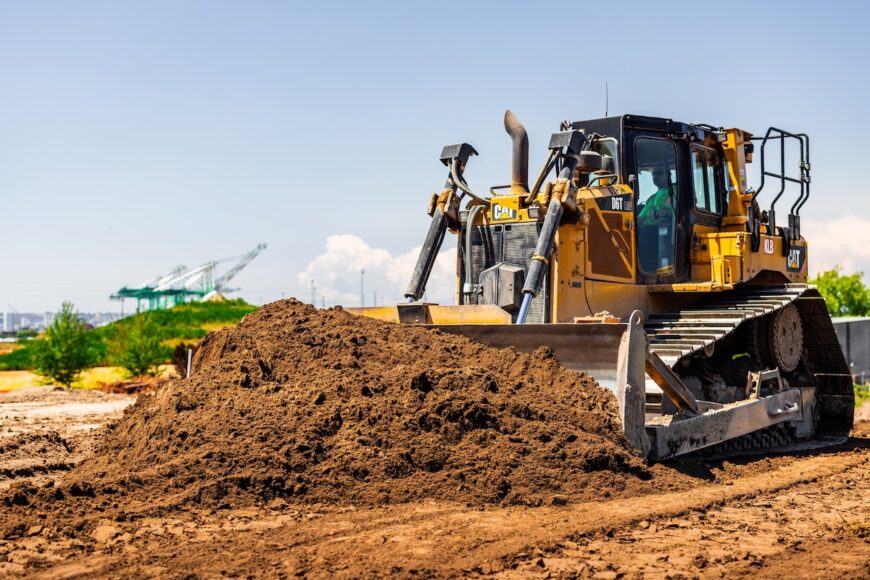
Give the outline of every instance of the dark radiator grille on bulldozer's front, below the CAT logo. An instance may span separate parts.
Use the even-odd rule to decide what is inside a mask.
[[[509,225],[483,225],[473,226],[471,232],[471,279],[477,284],[480,280],[480,272],[504,262],[512,266],[518,266],[526,271],[529,261],[535,253],[535,244],[538,241],[540,222]],[[465,284],[465,234],[466,228],[460,230],[459,245],[459,283],[460,288]],[[526,322],[542,323],[549,322],[548,308],[549,295],[547,291],[549,275],[544,278],[544,289],[532,300]],[[460,304],[478,304],[482,297],[460,296]],[[516,313],[514,313],[514,319]]]

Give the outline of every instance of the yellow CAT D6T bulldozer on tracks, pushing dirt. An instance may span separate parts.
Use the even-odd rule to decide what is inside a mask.
[[[526,130],[511,111],[504,123],[510,185],[474,192],[465,173],[477,151],[444,147],[447,181],[429,203],[407,302],[352,310],[498,347],[550,347],[613,389],[626,437],[651,460],[848,435],[852,377],[807,285],[807,135],[637,115],[566,121],[530,187]],[[787,151],[799,157],[792,172]],[[754,155],[757,189],[747,184]],[[447,232],[458,236],[457,304],[422,302]]]

